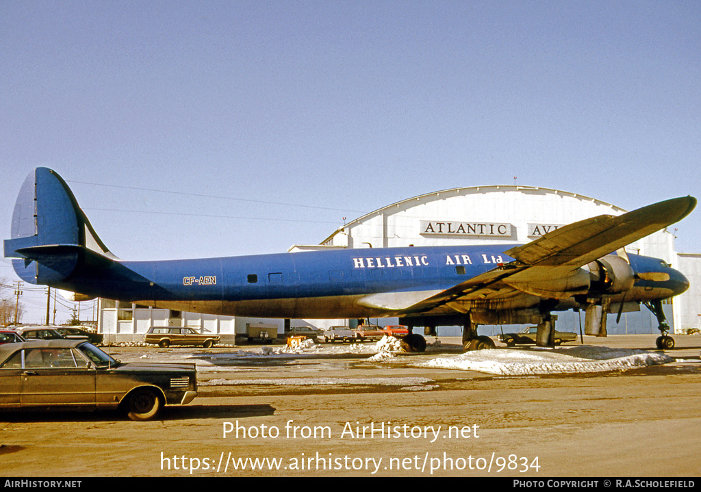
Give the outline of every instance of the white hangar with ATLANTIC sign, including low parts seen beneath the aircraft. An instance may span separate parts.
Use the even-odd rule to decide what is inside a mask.
[[[388,205],[355,219],[334,231],[321,245],[293,246],[290,252],[322,250],[329,247],[402,247],[430,245],[479,245],[484,243],[526,243],[547,231],[574,221],[601,214],[620,215],[620,207],[576,193],[529,186],[473,186],[416,196]],[[664,259],[683,273],[695,271],[701,281],[701,255],[680,257],[674,249],[674,235],[659,231],[627,247],[632,253]],[[692,285],[698,285],[692,281]],[[690,279],[691,280],[691,279]],[[691,291],[692,289],[690,289]],[[701,323],[700,292],[679,296],[679,308],[667,317],[673,327],[695,327]],[[245,333],[246,324],[264,322],[278,326],[283,320],[252,320],[231,316],[170,312],[114,301],[100,303],[100,332],[114,334],[117,341],[139,341],[150,326],[192,326],[198,331],[222,335],[233,342],[234,334]],[[558,313],[558,328],[577,331],[578,313]],[[643,308],[640,313],[625,313],[621,326],[609,320],[608,332],[644,332],[656,334],[657,323]],[[373,322],[375,320],[372,320]],[[377,320],[394,324],[396,319]],[[292,320],[292,326],[328,327],[347,324],[347,320]],[[483,334],[491,333],[486,327]],[[444,332],[442,332],[444,333]]]

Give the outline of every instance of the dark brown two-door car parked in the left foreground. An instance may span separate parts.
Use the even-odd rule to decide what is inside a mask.
[[[123,364],[83,340],[0,346],[0,409],[123,409],[145,421],[196,396],[195,364]]]

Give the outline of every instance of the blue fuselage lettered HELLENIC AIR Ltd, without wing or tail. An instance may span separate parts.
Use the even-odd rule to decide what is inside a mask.
[[[56,287],[148,306],[222,315],[395,315],[394,310],[368,306],[362,299],[380,293],[441,292],[508,264],[512,258],[503,252],[512,246],[370,248],[114,261],[110,268],[95,272],[79,266],[74,275]],[[688,287],[686,278],[664,262],[629,256],[634,271],[665,271],[669,280],[641,281],[627,301],[672,296]],[[509,307],[527,308],[534,303],[538,298],[524,294],[515,297]]]

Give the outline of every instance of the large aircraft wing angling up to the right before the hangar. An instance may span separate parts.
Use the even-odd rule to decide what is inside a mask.
[[[411,315],[426,313],[458,300],[508,299],[521,294],[523,291],[517,286],[529,281],[562,278],[563,286],[566,286],[566,279],[576,275],[581,266],[680,221],[695,205],[696,199],[687,196],[648,205],[620,216],[600,215],[584,219],[506,251],[505,254],[515,261],[441,292],[426,292],[426,297],[418,301],[416,292],[407,293],[406,296],[396,293],[394,302],[383,303],[382,307],[394,307],[402,315]],[[562,291],[563,296],[576,293],[568,292],[566,288]],[[383,300],[388,301],[386,298]],[[372,296],[367,299],[367,304],[372,304]]]

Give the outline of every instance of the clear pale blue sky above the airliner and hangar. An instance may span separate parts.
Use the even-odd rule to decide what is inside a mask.
[[[0,0],[0,48],[2,238],[38,165],[125,259],[285,251],[514,177],[701,196],[698,1]],[[701,252],[700,211],[675,227]]]

